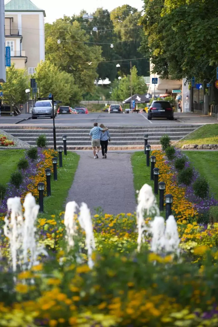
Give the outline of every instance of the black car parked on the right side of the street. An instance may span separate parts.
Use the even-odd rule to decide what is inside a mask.
[[[173,108],[169,101],[154,100],[148,108],[148,120],[152,118],[167,118],[173,120]]]

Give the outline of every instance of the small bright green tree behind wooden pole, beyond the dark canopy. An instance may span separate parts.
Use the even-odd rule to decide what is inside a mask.
[[[123,101],[131,95],[130,75],[124,76],[113,88],[111,98],[117,101]],[[137,75],[137,69],[132,68],[132,94],[144,94],[147,92],[147,85],[142,76]]]

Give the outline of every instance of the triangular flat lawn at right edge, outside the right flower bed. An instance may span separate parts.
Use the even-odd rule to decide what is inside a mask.
[[[184,151],[190,158],[193,166],[204,176],[210,185],[210,189],[216,199],[218,199],[217,184],[217,162],[218,151]]]

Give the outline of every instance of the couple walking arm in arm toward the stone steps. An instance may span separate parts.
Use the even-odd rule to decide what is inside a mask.
[[[110,134],[107,127],[101,124],[98,127],[98,123],[94,123],[94,127],[91,129],[89,133],[90,139],[92,140],[93,154],[94,159],[98,159],[98,152],[100,150],[102,152],[102,159],[107,158],[108,151],[108,141],[110,142]],[[96,150],[97,147],[97,150]]]

